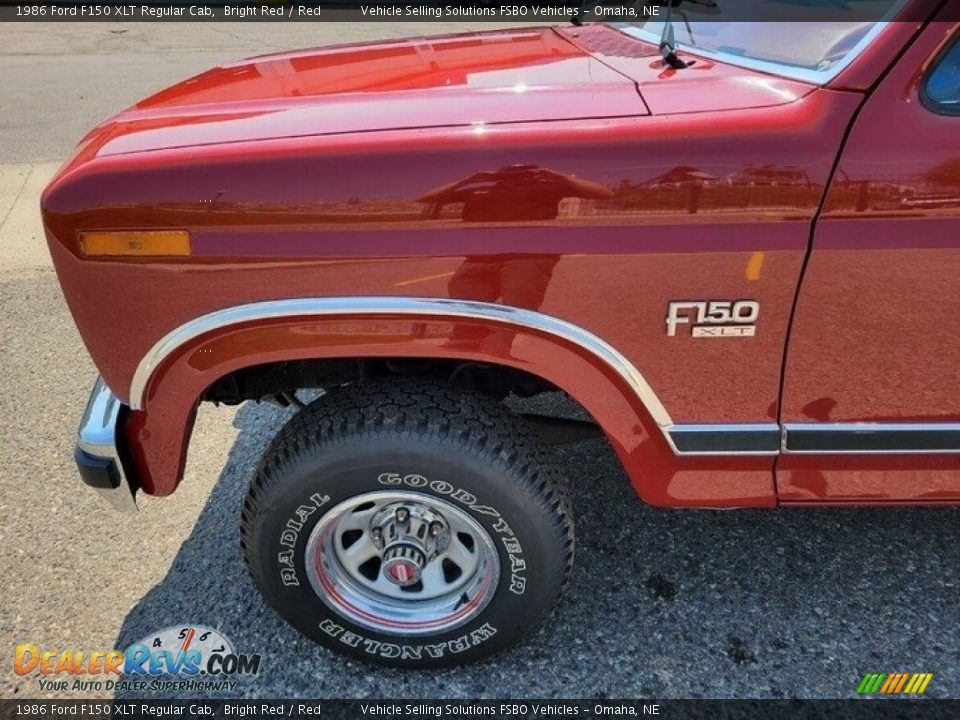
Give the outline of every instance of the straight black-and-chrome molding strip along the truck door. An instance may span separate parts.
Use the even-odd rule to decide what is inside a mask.
[[[786,423],[791,455],[944,455],[960,453],[960,423]]]

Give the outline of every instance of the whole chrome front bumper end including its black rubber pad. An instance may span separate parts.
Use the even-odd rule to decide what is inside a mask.
[[[114,508],[136,512],[136,488],[123,466],[117,445],[117,423],[123,404],[97,378],[77,430],[74,459],[80,478]]]

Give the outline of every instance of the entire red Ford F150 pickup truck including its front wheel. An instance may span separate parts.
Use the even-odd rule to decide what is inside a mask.
[[[42,201],[101,376],[83,480],[135,508],[199,403],[297,406],[247,564],[403,667],[556,603],[594,480],[551,443],[662,507],[960,502],[960,30],[890,5],[925,19],[268,55],[111,118]],[[502,402],[544,392],[592,422]]]

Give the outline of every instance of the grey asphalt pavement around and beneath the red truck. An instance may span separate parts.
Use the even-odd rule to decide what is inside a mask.
[[[79,483],[73,434],[96,376],[50,266],[38,197],[102,117],[244,55],[469,29],[413,23],[0,25],[0,696],[44,693],[14,646],[123,648],[218,628],[261,672],[231,696],[852,697],[867,672],[932,672],[960,697],[960,511],[644,507],[605,442],[559,449],[577,563],[516,650],[404,672],[313,645],[260,599],[240,558],[245,488],[288,411],[204,406],[186,477],[114,514]],[[537,410],[571,412],[560,398]],[[94,692],[83,697],[110,697]]]

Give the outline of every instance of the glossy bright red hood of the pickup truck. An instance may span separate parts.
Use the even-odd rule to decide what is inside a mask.
[[[94,133],[94,152],[646,114],[631,78],[550,28],[524,28],[216,67],[109,120]]]

